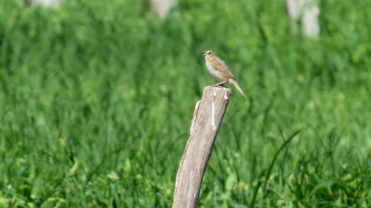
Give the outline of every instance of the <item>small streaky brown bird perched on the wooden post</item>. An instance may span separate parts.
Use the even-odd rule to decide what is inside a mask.
[[[234,87],[237,88],[238,91],[246,97],[246,95],[241,90],[240,86],[238,85],[236,78],[234,78],[232,72],[229,70],[226,63],[221,60],[213,51],[207,50],[202,53],[204,56],[204,61],[206,64],[206,68],[209,73],[216,78],[216,80],[221,81],[221,83],[214,84],[213,86],[223,86],[223,84],[233,84]]]

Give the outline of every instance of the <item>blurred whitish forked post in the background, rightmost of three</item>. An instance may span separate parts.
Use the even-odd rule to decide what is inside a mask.
[[[293,33],[298,32],[298,20],[301,20],[303,32],[317,38],[319,36],[319,9],[315,0],[286,0]]]

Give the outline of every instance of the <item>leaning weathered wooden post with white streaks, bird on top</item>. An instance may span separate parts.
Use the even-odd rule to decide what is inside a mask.
[[[173,208],[196,208],[201,182],[211,156],[231,91],[206,86],[193,113],[191,128],[175,181]]]

